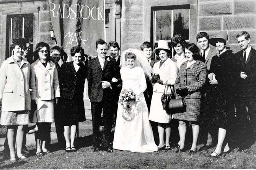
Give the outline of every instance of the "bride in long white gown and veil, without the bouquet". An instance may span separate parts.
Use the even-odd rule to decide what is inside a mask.
[[[113,148],[132,152],[157,151],[143,95],[147,88],[145,74],[151,78],[152,68],[138,49],[125,50],[121,55],[120,66],[122,91],[132,89],[139,96],[139,101],[132,105],[130,114],[126,114],[127,109],[118,104]]]

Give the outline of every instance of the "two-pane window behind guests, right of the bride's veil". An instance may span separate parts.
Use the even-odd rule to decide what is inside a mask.
[[[151,41],[153,49],[158,40],[166,40],[171,49],[171,38],[181,34],[189,42],[190,5],[154,6],[151,7]],[[173,55],[175,55],[175,51]]]

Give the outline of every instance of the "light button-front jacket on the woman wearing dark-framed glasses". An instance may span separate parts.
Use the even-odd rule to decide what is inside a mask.
[[[36,60],[31,64],[31,99],[38,101],[38,109],[44,100],[53,100],[60,97],[58,71],[53,62],[48,62],[46,67]]]

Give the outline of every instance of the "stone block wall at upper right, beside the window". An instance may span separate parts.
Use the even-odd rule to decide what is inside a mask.
[[[241,31],[251,35],[251,45],[256,47],[255,0],[199,0],[197,15],[197,31],[207,32],[210,38],[227,31],[234,53],[240,50],[236,35]]]

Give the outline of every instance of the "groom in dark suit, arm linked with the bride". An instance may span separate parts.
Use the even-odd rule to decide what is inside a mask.
[[[96,52],[98,57],[93,58],[88,63],[88,95],[91,102],[91,115],[93,119],[93,147],[94,152],[100,150],[101,112],[103,112],[103,150],[113,152],[110,146],[109,136],[113,121],[114,96],[113,87],[117,82],[111,81],[112,78],[120,79],[116,61],[108,59],[107,43],[98,39],[96,41]]]

